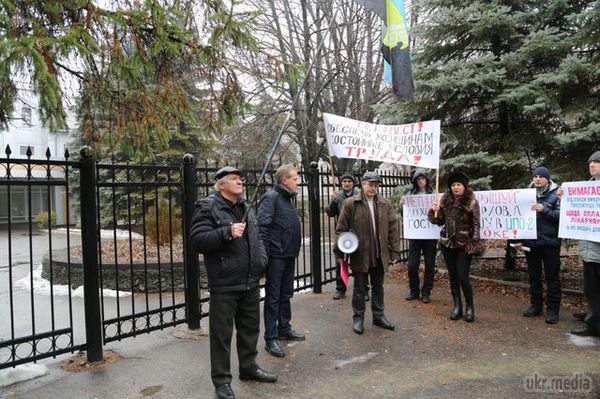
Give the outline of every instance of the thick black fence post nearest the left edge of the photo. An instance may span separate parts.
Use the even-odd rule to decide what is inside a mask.
[[[102,320],[98,284],[98,229],[96,225],[96,162],[91,148],[81,154],[81,248],[83,251],[83,291],[85,338],[88,362],[102,360]]]

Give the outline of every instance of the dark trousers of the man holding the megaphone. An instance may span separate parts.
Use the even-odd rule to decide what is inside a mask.
[[[373,318],[383,316],[383,265],[377,259],[377,266],[369,268],[368,273],[353,272],[354,292],[352,293],[353,319],[365,318],[365,294],[368,290],[369,277],[371,278],[371,312]]]

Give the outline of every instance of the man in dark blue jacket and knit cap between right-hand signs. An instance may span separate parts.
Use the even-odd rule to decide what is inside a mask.
[[[550,171],[544,166],[535,168],[533,181],[529,186],[535,188],[537,202],[531,206],[536,211],[537,239],[523,240],[516,245],[517,249],[529,248],[525,251],[527,271],[529,272],[529,300],[531,306],[525,317],[535,317],[543,313],[544,287],[542,284],[542,267],[546,275],[546,323],[558,323],[560,310],[560,244],[558,238],[558,221],[560,217],[560,201],[558,185],[550,179]]]

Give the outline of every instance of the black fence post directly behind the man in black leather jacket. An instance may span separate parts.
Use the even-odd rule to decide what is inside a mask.
[[[192,154],[183,157],[183,262],[185,268],[185,305],[188,328],[200,328],[200,295],[199,295],[199,265],[198,254],[192,250],[190,233],[192,230],[192,215],[196,205],[196,161]]]

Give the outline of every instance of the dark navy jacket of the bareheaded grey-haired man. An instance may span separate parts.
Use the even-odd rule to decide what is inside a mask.
[[[302,233],[294,205],[295,193],[275,184],[260,200],[258,225],[267,254],[274,258],[297,257]]]

